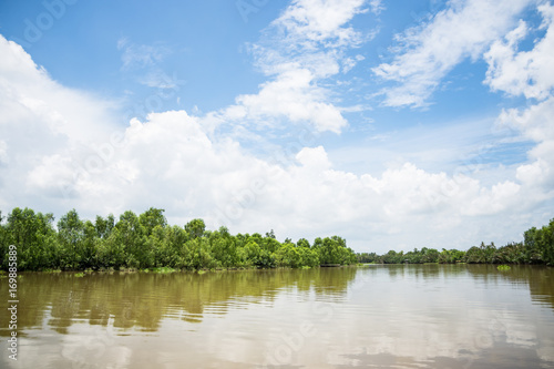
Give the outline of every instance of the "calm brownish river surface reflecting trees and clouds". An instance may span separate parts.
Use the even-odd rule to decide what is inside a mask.
[[[554,368],[546,267],[24,274],[18,293],[0,368]]]

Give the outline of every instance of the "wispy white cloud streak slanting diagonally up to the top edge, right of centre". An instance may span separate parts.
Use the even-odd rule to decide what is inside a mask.
[[[424,106],[441,80],[460,62],[476,60],[482,52],[516,21],[516,16],[533,3],[514,0],[450,1],[428,23],[397,35],[400,47],[391,50],[390,63],[373,68],[373,73],[399,85],[386,88],[384,104]]]

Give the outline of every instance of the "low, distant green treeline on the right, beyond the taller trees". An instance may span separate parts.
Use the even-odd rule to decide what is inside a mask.
[[[469,264],[547,264],[554,265],[554,219],[542,228],[530,228],[523,234],[523,242],[496,247],[494,243],[473,246],[466,252],[423,247],[408,253],[390,250],[384,255],[376,253],[357,254],[359,263],[422,264],[422,263],[469,263]]]

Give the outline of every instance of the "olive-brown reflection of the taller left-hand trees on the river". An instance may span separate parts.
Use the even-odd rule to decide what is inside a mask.
[[[252,304],[270,305],[290,288],[299,299],[310,289],[320,296],[340,297],[356,269],[329,270],[93,274],[82,278],[25,274],[19,281],[20,305],[25,307],[19,312],[19,327],[41,327],[48,316],[47,325],[60,334],[75,322],[107,326],[109,321],[115,328],[154,332],[166,317],[202,322],[205,312],[225,315]]]

